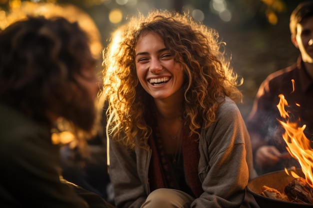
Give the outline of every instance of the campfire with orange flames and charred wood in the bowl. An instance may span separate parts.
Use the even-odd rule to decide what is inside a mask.
[[[313,204],[313,151],[310,146],[311,141],[303,133],[305,125],[299,127],[296,122],[289,121],[289,114],[285,110],[285,106],[288,106],[288,103],[282,94],[279,95],[279,98],[277,108],[284,121],[277,120],[285,130],[282,138],[287,145],[286,150],[299,162],[304,177],[300,177],[295,172],[285,169],[285,173],[291,175],[293,179],[284,185],[284,189],[278,191],[263,185],[261,195],[286,202]]]

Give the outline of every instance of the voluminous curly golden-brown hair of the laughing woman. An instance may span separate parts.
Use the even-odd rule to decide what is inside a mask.
[[[190,134],[207,128],[215,120],[215,111],[225,96],[241,101],[237,89],[242,83],[229,66],[224,42],[218,33],[188,14],[167,10],[138,14],[117,29],[110,44],[103,50],[103,96],[109,101],[107,114],[113,114],[109,132],[126,147],[134,147],[135,137],[146,146],[151,127],[147,114],[152,97],[141,87],[135,68],[134,48],[142,32],[158,34],[180,63],[184,73],[182,119]],[[181,58],[182,57],[182,58]]]

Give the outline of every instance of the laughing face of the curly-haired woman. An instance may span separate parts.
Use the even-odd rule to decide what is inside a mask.
[[[139,37],[135,46],[135,62],[141,86],[154,99],[169,98],[181,89],[181,64],[174,61],[173,54],[156,33],[145,32]]]

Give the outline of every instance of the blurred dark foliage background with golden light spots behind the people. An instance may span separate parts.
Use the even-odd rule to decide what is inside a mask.
[[[305,0],[0,0],[0,29],[27,14],[61,15],[89,33],[91,49],[101,51],[111,32],[138,11],[151,8],[188,12],[194,19],[217,29],[226,42],[232,67],[243,77],[238,104],[245,119],[258,86],[270,73],[291,65],[299,55],[290,41],[289,16]],[[101,64],[98,69],[101,70]]]

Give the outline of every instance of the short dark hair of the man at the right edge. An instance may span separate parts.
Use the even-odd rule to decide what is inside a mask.
[[[289,28],[291,34],[296,35],[296,25],[311,16],[313,16],[313,1],[299,3],[290,15]]]

